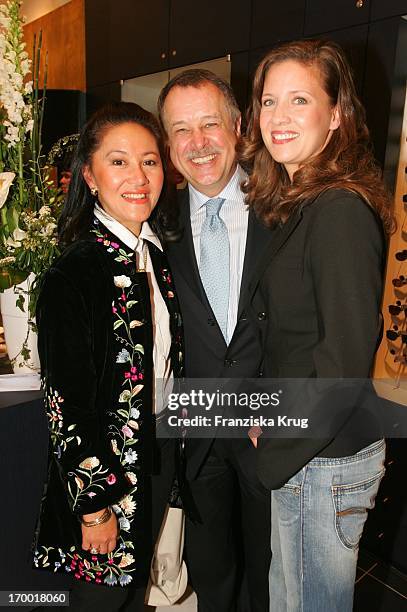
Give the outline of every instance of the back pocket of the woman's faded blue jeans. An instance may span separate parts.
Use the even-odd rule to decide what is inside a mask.
[[[385,470],[354,484],[333,485],[336,532],[341,543],[356,549],[362,536],[367,512],[374,507],[380,481]]]

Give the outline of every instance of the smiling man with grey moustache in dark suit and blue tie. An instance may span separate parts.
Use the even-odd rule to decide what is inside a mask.
[[[229,84],[187,70],[162,90],[158,111],[175,168],[183,229],[168,256],[185,330],[189,378],[244,378],[261,373],[258,332],[245,314],[251,270],[269,232],[248,212],[236,163],[240,111]],[[264,321],[265,313],[258,318]],[[244,568],[250,602],[266,612],[269,492],[255,475],[248,437],[186,441],[187,477],[200,522],[187,521],[186,550],[199,612],[236,609]],[[243,563],[242,563],[243,560]]]

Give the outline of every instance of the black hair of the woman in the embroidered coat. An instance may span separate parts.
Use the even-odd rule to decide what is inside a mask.
[[[154,115],[132,102],[114,102],[97,110],[84,126],[75,149],[68,195],[58,224],[59,239],[67,246],[83,237],[90,229],[93,219],[95,197],[83,177],[83,168],[90,164],[93,153],[109,128],[123,123],[136,123],[146,128],[155,138],[164,166],[164,184],[160,198],[149,218],[149,224],[160,240],[174,239],[178,210],[175,198],[165,178],[166,156],[163,135]]]

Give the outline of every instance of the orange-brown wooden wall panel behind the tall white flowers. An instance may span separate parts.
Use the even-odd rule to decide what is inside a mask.
[[[49,89],[86,91],[84,0],[71,0],[24,26],[31,56],[34,34],[42,30],[42,64],[48,52]]]

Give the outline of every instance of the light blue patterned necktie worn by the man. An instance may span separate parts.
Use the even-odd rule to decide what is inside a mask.
[[[213,313],[228,341],[229,308],[229,235],[219,211],[225,200],[213,198],[206,206],[201,229],[199,272]]]

